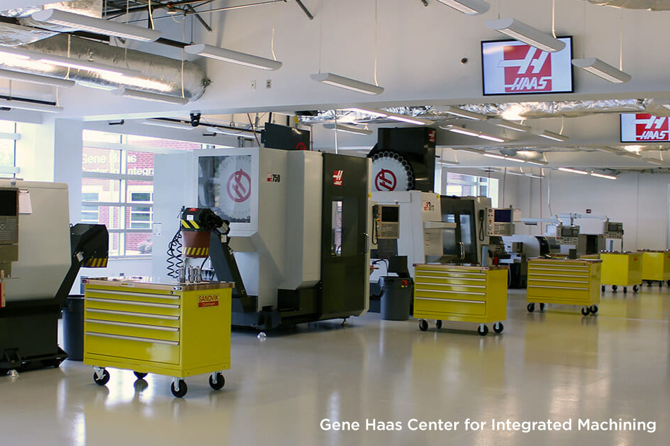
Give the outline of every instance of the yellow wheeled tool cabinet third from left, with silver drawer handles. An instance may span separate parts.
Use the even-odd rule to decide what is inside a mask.
[[[535,304],[581,305],[582,314],[596,314],[600,303],[600,272],[597,259],[530,259],[528,261],[528,311]]]

